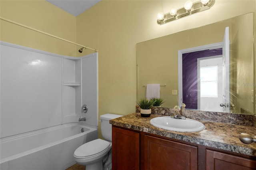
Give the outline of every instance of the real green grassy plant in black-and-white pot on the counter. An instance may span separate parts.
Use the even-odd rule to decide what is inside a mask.
[[[150,117],[151,115],[151,107],[154,105],[154,100],[148,99],[140,99],[138,101],[138,105],[140,106],[140,115],[141,117]]]

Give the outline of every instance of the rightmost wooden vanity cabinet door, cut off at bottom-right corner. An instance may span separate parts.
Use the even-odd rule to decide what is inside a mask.
[[[206,170],[256,170],[256,161],[206,150]]]

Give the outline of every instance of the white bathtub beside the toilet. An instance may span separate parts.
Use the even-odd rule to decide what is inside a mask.
[[[81,132],[81,129],[84,132]],[[65,170],[74,151],[98,138],[98,130],[67,123],[0,139],[1,170]]]

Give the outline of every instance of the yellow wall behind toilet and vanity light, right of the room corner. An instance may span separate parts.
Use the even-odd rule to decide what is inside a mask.
[[[102,0],[77,17],[78,43],[99,49],[99,115],[134,113],[136,43],[255,12],[255,0],[216,0],[210,10],[159,26],[158,12],[184,1]]]

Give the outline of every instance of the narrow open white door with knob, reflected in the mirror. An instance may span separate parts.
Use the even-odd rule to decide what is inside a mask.
[[[230,89],[229,89],[229,27],[225,28],[222,47],[222,67],[223,67],[223,101],[220,106],[223,112],[230,111]]]

